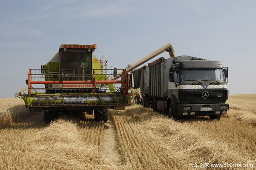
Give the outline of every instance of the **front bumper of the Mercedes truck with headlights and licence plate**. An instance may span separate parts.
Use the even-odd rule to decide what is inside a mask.
[[[209,116],[226,114],[228,110],[228,103],[177,105],[177,116]]]

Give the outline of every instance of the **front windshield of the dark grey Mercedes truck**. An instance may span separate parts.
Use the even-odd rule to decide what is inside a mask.
[[[183,84],[223,84],[225,82],[223,70],[181,70]]]

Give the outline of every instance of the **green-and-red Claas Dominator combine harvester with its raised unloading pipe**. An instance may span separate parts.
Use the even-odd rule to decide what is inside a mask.
[[[108,121],[108,109],[123,110],[131,104],[132,76],[128,74],[157,55],[168,51],[171,44],[154,51],[125,69],[108,69],[106,56],[95,51],[96,44],[64,44],[41,69],[29,69],[28,94],[25,88],[15,97],[24,100],[31,112],[44,111],[44,121],[51,122],[58,112],[87,112],[96,121]],[[94,53],[99,52],[101,59]],[[34,87],[33,87],[34,86]]]

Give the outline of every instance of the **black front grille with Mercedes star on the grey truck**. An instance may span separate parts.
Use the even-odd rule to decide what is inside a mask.
[[[207,93],[204,93],[207,92]],[[180,102],[225,102],[227,98],[227,90],[197,90],[197,91],[180,91]],[[207,96],[204,96],[207,94]],[[204,96],[204,97],[203,97]]]

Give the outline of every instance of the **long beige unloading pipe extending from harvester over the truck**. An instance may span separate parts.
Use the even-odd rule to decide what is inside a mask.
[[[148,54],[146,57],[140,59],[137,62],[134,62],[133,64],[128,64],[128,67],[125,69],[127,72],[130,72],[134,70],[135,68],[139,67],[140,65],[143,65],[145,62],[149,61],[150,59],[158,56],[159,54],[162,54],[164,51],[169,52],[170,57],[175,57],[175,51],[170,43],[164,45],[163,47],[159,48],[158,50],[152,52],[151,54]],[[119,75],[122,74],[122,71],[119,71],[117,73],[117,77],[113,77],[112,79],[116,79],[119,77]]]

